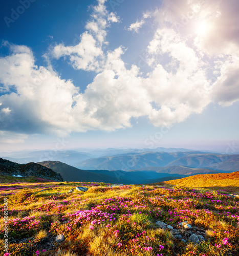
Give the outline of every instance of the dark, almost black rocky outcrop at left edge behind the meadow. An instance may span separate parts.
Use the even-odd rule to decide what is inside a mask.
[[[63,181],[60,174],[37,163],[19,164],[0,158],[0,174],[10,176],[35,176],[53,181]]]

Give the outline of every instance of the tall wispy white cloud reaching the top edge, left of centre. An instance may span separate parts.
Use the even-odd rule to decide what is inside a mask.
[[[85,31],[80,36],[80,42],[76,46],[56,45],[50,49],[47,56],[59,59],[60,57],[69,57],[70,64],[74,69],[85,71],[97,71],[102,66],[103,50],[102,46],[107,45],[105,40],[106,27],[110,26],[109,22],[117,22],[119,17],[114,13],[108,14],[105,1],[98,1],[98,5],[93,7],[91,19],[86,23]],[[108,22],[107,22],[107,20]]]

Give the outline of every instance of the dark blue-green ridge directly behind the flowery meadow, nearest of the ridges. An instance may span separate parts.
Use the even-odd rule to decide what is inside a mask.
[[[180,179],[195,174],[219,173],[211,169],[194,169],[182,166],[155,167],[157,170],[82,170],[59,161],[39,162],[59,173],[64,181],[106,182],[123,184],[154,183]]]

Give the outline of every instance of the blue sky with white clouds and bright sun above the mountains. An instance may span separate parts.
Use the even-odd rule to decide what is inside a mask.
[[[6,1],[0,151],[239,145],[239,4]]]

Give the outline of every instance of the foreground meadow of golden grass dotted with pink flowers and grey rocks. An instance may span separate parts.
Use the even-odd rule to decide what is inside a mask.
[[[239,199],[229,193],[105,183],[5,184],[0,215],[7,198],[11,256],[236,256]],[[1,252],[4,227],[1,218]]]

